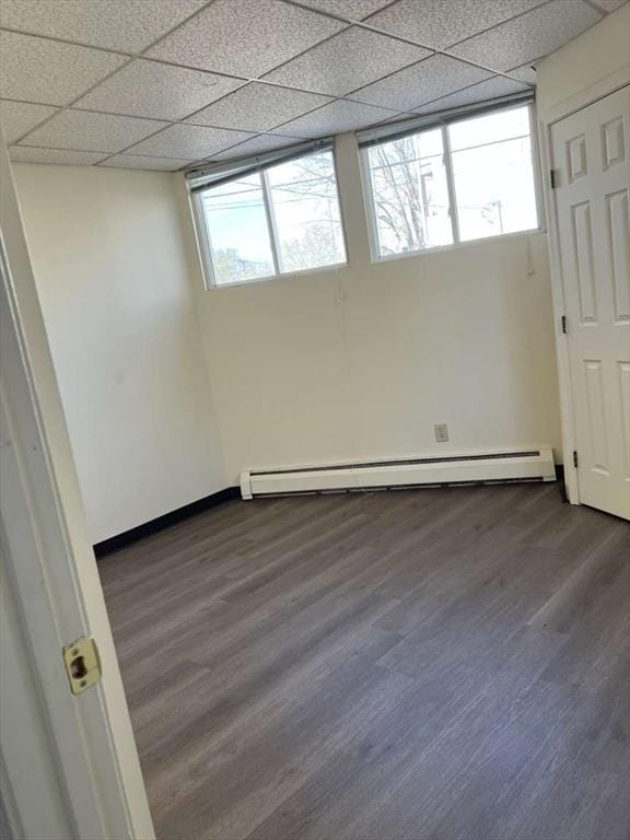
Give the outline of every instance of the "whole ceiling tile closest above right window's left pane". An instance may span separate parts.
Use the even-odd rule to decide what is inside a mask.
[[[411,110],[469,84],[489,79],[492,73],[447,56],[431,56],[406,70],[354,92],[353,100],[383,107]]]

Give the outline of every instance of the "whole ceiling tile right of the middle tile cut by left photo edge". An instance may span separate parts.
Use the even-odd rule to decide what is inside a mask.
[[[240,79],[137,59],[79,100],[75,106],[177,120],[241,84]]]

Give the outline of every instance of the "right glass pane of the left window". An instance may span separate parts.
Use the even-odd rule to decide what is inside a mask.
[[[343,262],[335,163],[329,151],[267,171],[280,271]]]

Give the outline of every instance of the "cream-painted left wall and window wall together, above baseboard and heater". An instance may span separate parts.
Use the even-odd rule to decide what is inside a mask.
[[[337,161],[350,265],[212,292],[182,176],[15,167],[94,540],[243,467],[560,456],[546,235],[373,264],[352,135]]]

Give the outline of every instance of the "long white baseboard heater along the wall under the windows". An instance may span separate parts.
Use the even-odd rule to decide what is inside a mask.
[[[293,493],[393,490],[442,485],[555,481],[550,447],[417,457],[362,464],[327,464],[241,472],[243,499]]]

